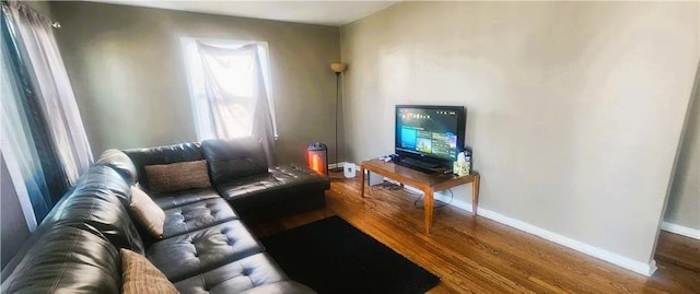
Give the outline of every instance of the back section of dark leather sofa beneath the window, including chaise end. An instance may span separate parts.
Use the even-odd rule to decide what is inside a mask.
[[[280,219],[323,208],[330,181],[305,166],[267,166],[260,143],[255,140],[205,140],[150,149],[126,150],[149,189],[145,167],[207,161],[211,188],[158,193],[163,208],[208,198],[223,197],[247,223]]]

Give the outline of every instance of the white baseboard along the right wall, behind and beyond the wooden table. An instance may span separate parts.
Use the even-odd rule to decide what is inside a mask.
[[[395,183],[398,184],[395,180],[385,178],[387,181],[390,183]],[[422,193],[419,189],[416,189],[413,187],[410,186],[405,186],[407,190],[410,190],[412,192],[417,192],[417,193]],[[471,211],[471,203],[470,202],[466,202],[456,198],[452,198],[450,195],[445,195],[444,192],[436,192],[434,195],[435,200],[440,200],[442,202],[445,203],[450,203],[451,205],[462,209],[462,210],[466,210],[469,212]],[[452,200],[452,201],[451,201]],[[574,249],[579,252],[595,257],[597,259],[610,262],[615,266],[631,270],[633,272],[637,272],[639,274],[645,275],[645,277],[651,277],[655,271],[656,271],[656,261],[655,260],[651,260],[649,263],[646,262],[642,262],[639,260],[634,260],[608,250],[605,250],[603,248],[599,247],[595,247],[593,245],[576,240],[576,239],[572,239],[570,237],[567,236],[562,236],[559,235],[557,233],[547,231],[545,228],[532,225],[529,223],[513,219],[513,217],[509,217],[505,216],[501,213],[494,212],[494,211],[490,211],[488,209],[483,209],[483,208],[477,208],[478,209],[478,215],[487,217],[489,220],[499,222],[501,224],[511,226],[513,228],[523,231],[525,233],[541,237],[544,239],[547,239],[549,242],[553,242],[556,244],[559,244],[561,246],[565,246],[569,247],[571,249]]]

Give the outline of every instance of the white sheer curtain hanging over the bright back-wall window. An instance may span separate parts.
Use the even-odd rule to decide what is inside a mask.
[[[221,139],[257,138],[268,165],[275,165],[275,125],[258,45],[225,48],[196,44],[207,102],[208,116],[203,116],[209,118],[209,124],[200,124],[208,129],[199,132]]]

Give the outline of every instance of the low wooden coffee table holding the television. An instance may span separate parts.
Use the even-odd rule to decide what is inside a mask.
[[[433,222],[433,193],[455,186],[474,183],[471,185],[471,211],[476,217],[479,203],[479,181],[478,174],[455,176],[452,174],[425,174],[416,169],[400,166],[381,160],[364,161],[360,164],[360,178],[362,188],[360,196],[364,197],[365,170],[385,176],[400,184],[416,187],[424,193],[425,233],[430,234]]]

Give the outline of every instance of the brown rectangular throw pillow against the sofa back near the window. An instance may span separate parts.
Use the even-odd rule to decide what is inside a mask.
[[[207,161],[179,162],[172,164],[147,165],[145,176],[149,191],[154,193],[175,192],[211,186]]]

